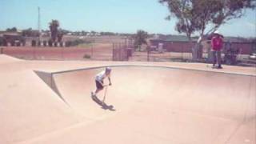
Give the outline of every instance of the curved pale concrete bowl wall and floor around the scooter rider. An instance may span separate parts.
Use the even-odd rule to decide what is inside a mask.
[[[116,66],[102,110],[90,99],[103,68],[53,74],[61,97],[82,117],[97,120],[26,143],[256,142],[256,78],[198,70]],[[104,91],[98,96],[102,98]],[[104,121],[102,121],[104,119]]]

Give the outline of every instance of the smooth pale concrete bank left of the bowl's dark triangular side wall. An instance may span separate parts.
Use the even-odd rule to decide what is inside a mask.
[[[32,70],[0,74],[0,143],[36,138],[79,122]]]

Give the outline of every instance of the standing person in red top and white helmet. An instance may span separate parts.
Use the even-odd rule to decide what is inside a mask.
[[[219,34],[218,30],[214,32],[214,36],[211,38],[211,48],[213,53],[213,68],[215,68],[216,62],[218,62],[218,69],[222,69],[222,46],[223,36]]]

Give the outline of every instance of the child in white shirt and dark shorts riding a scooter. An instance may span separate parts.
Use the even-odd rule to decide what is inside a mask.
[[[104,78],[107,77],[108,80],[109,80],[109,86],[112,85],[111,79],[110,79],[110,73],[111,73],[111,68],[106,67],[105,70],[103,70],[102,72],[100,72],[96,75],[96,78],[95,78],[96,90],[91,92],[91,95],[92,95],[93,98],[96,97],[96,94],[98,94],[99,91],[104,89],[104,86],[107,86],[107,85],[104,85]]]

